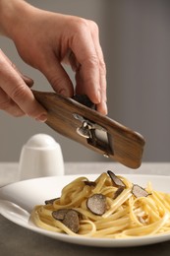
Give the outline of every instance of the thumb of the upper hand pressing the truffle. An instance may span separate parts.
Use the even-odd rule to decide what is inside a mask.
[[[74,89],[71,79],[54,53],[48,53],[41,62],[40,71],[47,78],[54,91],[63,96],[73,96]]]

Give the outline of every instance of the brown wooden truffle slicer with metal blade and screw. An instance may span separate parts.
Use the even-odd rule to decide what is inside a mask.
[[[122,164],[138,168],[142,163],[141,134],[92,109],[78,98],[32,91],[46,108],[46,124],[61,135]],[[89,102],[89,101],[88,101]]]

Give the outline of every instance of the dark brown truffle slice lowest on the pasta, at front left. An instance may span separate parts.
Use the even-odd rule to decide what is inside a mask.
[[[73,209],[60,209],[52,212],[52,217],[69,227],[73,232],[77,233],[80,228],[79,213]]]

